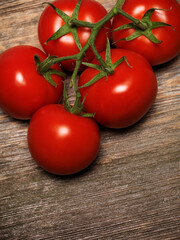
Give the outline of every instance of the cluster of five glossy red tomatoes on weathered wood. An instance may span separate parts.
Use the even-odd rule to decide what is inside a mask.
[[[31,119],[28,129],[28,146],[32,157],[45,170],[59,175],[77,173],[96,158],[100,146],[100,133],[97,123],[109,128],[125,128],[133,125],[152,106],[157,95],[157,81],[152,66],[165,63],[180,51],[180,5],[175,0],[126,0],[122,10],[141,20],[147,19],[144,34],[137,28],[128,27],[131,21],[120,14],[108,21],[98,32],[95,47],[101,58],[109,64],[125,57],[127,61],[118,64],[113,73],[98,79],[88,87],[82,87],[95,78],[98,67],[81,66],[78,87],[84,111],[95,114],[86,118],[68,111],[59,104],[63,97],[63,77],[53,74],[61,71],[58,64],[51,67],[51,77],[57,86],[51,85],[37,71],[34,56],[42,61],[48,55],[64,57],[77,54],[77,44],[84,46],[91,34],[91,28],[65,26],[77,5],[77,0],[56,0],[57,12],[48,5],[43,11],[38,25],[39,41],[44,49],[32,46],[16,46],[0,55],[0,107],[16,119]],[[65,13],[63,15],[63,13]],[[82,0],[78,20],[97,23],[107,11],[95,0]],[[159,25],[153,27],[153,23]],[[161,23],[166,25],[162,26]],[[126,26],[122,28],[121,26]],[[67,31],[61,37],[55,33]],[[158,27],[159,26],[159,27]],[[117,31],[118,28],[121,28]],[[136,32],[137,31],[137,32]],[[146,37],[149,32],[155,43]],[[136,33],[135,33],[136,32]],[[133,34],[136,37],[133,38]],[[137,36],[139,34],[139,36]],[[110,50],[107,59],[106,36],[116,48]],[[78,36],[78,39],[75,38]],[[132,36],[131,39],[128,39]],[[124,40],[126,39],[126,41]],[[92,66],[100,66],[89,48],[83,61]],[[61,62],[61,68],[72,71],[75,60]],[[55,73],[56,71],[54,71]]]

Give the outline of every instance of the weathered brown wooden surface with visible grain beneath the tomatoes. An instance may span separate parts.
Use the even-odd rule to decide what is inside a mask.
[[[42,2],[0,1],[0,52],[40,47]],[[114,3],[103,1],[107,9]],[[96,161],[73,177],[39,168],[28,121],[0,110],[0,239],[180,239],[180,58],[155,73],[159,92],[148,114],[125,130],[101,128]]]

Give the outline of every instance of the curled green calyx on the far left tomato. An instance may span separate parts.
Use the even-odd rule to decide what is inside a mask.
[[[51,75],[58,75],[63,78],[66,77],[66,74],[57,70],[52,69],[50,66],[53,65],[54,56],[48,56],[43,62],[42,59],[38,56],[34,56],[34,61],[37,67],[37,72],[41,74],[52,86],[57,87],[57,83],[55,83],[51,77]]]

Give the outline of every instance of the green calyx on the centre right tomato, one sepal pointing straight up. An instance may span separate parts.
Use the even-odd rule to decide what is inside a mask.
[[[129,67],[131,67],[127,61],[127,58],[124,56],[117,60],[115,63],[111,62],[111,48],[110,48],[110,42],[109,39],[107,38],[107,44],[106,44],[106,57],[103,65],[97,65],[93,63],[86,63],[83,62],[83,64],[87,67],[94,68],[99,73],[97,73],[90,81],[85,83],[83,86],[80,86],[79,88],[83,87],[89,87],[96,83],[98,80],[100,80],[103,77],[107,77],[108,75],[112,75],[114,73],[114,70],[117,66],[119,66],[123,61],[126,61]],[[104,67],[105,66],[105,67]]]

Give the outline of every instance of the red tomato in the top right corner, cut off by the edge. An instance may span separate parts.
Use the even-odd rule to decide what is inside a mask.
[[[175,0],[127,0],[123,5],[123,10],[133,16],[141,19],[144,13],[150,8],[166,9],[155,10],[151,16],[153,22],[164,22],[172,25],[172,27],[159,27],[152,30],[154,36],[162,43],[156,44],[151,42],[145,36],[140,36],[131,41],[118,41],[119,39],[130,36],[135,30],[126,29],[113,32],[113,42],[117,48],[125,48],[136,51],[146,57],[152,65],[165,63],[180,52],[180,5]],[[121,25],[130,21],[121,15],[114,17],[112,29],[116,29]]]

